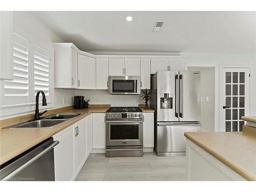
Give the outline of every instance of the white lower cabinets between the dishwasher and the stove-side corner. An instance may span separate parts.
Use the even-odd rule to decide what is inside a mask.
[[[92,115],[55,134],[55,181],[72,181],[80,172],[92,151]]]

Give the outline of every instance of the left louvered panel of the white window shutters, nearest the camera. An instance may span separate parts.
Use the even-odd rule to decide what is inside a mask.
[[[29,41],[13,34],[13,80],[4,81],[1,105],[28,103],[29,101]]]

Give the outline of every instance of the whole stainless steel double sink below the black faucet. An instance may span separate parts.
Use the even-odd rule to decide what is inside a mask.
[[[49,116],[46,116],[44,119],[35,120],[35,121],[31,121],[31,122],[18,123],[15,125],[4,127],[3,129],[52,128],[64,121],[74,118],[78,115],[80,115],[80,114],[49,115]]]

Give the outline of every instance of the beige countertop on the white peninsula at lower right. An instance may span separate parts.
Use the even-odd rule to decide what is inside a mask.
[[[243,132],[193,132],[185,137],[247,180],[256,180],[256,137]]]

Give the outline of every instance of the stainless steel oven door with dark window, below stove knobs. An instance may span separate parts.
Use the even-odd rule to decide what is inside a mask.
[[[106,146],[143,145],[143,120],[106,122]]]

